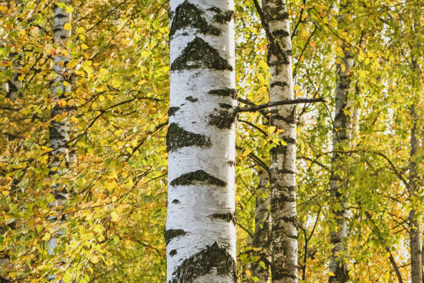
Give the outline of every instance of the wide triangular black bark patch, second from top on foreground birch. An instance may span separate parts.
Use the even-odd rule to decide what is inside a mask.
[[[182,54],[171,64],[171,71],[188,69],[214,69],[233,71],[229,62],[222,58],[218,50],[214,49],[200,37],[188,43]]]

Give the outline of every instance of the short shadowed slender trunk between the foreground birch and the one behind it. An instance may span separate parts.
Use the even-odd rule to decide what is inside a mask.
[[[270,255],[271,255],[271,196],[267,189],[269,178],[267,172],[260,171],[259,186],[256,190],[255,233],[253,246],[261,248],[260,259],[252,267],[252,275],[258,277],[259,283],[270,282]],[[260,266],[263,261],[265,268]]]

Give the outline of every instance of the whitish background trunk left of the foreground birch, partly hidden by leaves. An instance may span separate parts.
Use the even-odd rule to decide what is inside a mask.
[[[69,1],[64,1],[69,3]],[[68,109],[59,102],[60,99],[65,99],[67,94],[71,91],[71,76],[67,70],[67,62],[69,57],[67,55],[66,46],[67,40],[71,36],[71,30],[67,28],[67,24],[71,24],[71,14],[67,13],[64,9],[55,7],[54,22],[53,22],[53,42],[58,50],[58,55],[53,58],[53,69],[56,74],[53,83],[52,98],[57,101],[51,110],[51,117],[53,121],[50,125],[49,145],[53,148],[51,152],[51,162],[49,166],[49,175],[64,173],[64,168],[67,167],[67,158],[69,149],[67,141],[69,141],[69,123],[67,119],[60,117]],[[67,82],[67,83],[65,83]],[[68,191],[61,183],[53,183],[51,191],[54,191],[55,202],[52,204],[53,210],[59,210],[69,198]],[[59,214],[59,212],[58,212]],[[58,216],[51,216],[49,221],[53,223],[53,235],[48,241],[48,254],[53,255],[54,249],[58,246],[58,234],[63,234],[64,230],[60,228],[60,218]],[[61,259],[65,261],[65,259]],[[48,280],[53,280],[55,275],[52,275]]]

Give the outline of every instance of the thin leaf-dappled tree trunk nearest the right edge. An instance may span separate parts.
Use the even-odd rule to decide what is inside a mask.
[[[416,107],[411,107],[411,119],[412,119],[412,130],[411,130],[411,153],[409,160],[409,198],[416,198],[418,196],[418,175],[416,172],[416,154],[418,146],[420,145],[418,130],[418,116],[416,114]],[[414,201],[412,202],[414,203]],[[416,207],[412,205],[412,209],[409,212],[409,241],[411,249],[411,271],[412,271],[412,283],[423,282],[423,269],[422,269],[422,246],[421,246],[421,232],[420,223],[416,217]]]

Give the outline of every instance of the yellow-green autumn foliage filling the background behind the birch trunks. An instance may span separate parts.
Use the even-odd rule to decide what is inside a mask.
[[[164,282],[168,2],[0,4],[1,277]],[[66,46],[53,43],[55,5],[72,13]],[[399,275],[409,282],[412,208],[423,223],[423,146],[410,154],[411,132],[421,135],[423,126],[422,3],[293,0],[288,8],[296,98],[326,101],[297,106],[299,276],[328,281],[329,235],[337,226],[328,188],[334,93],[346,49],[355,59],[346,111],[357,117],[356,134],[337,164],[352,214],[346,264],[352,282],[398,282]],[[235,21],[240,105],[267,103],[267,40],[254,1],[236,1]],[[58,54],[69,58],[71,78],[64,84],[71,91],[52,98]],[[52,117],[56,106],[65,111]],[[237,123],[240,282],[256,281],[251,266],[260,262],[253,243],[256,199],[269,189],[259,180],[279,142],[267,114],[243,112]],[[75,156],[57,174],[49,173],[52,121],[69,124],[67,145]],[[411,162],[417,164],[414,194]],[[69,192],[60,207],[49,205],[52,184]],[[48,221],[52,216],[62,220],[62,233]],[[49,254],[53,235],[58,246]],[[61,259],[69,259],[66,266]]]

